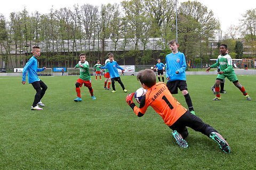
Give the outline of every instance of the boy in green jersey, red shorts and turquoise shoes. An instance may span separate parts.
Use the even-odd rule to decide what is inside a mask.
[[[80,76],[76,81],[76,93],[77,98],[74,99],[75,102],[81,102],[81,90],[80,87],[84,84],[84,86],[88,87],[89,92],[91,93],[91,98],[95,100],[95,96],[93,95],[92,83],[91,83],[91,76],[89,72],[89,62],[86,61],[86,55],[84,53],[79,54],[80,61],[75,66],[75,68],[80,69]]]

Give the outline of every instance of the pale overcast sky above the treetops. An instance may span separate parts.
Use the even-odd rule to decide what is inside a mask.
[[[185,0],[178,0],[179,2],[186,2]],[[194,0],[191,0],[194,1]],[[197,0],[203,5],[212,10],[214,17],[221,22],[221,29],[225,32],[230,25],[239,25],[239,19],[242,19],[242,14],[246,10],[256,8],[256,0]],[[0,13],[4,14],[9,19],[11,12],[20,12],[26,7],[29,13],[38,11],[41,14],[49,13],[50,9],[60,9],[61,7],[70,7],[73,9],[74,4],[92,4],[98,5],[107,3],[120,3],[122,0],[73,0],[73,1],[60,1],[60,0],[43,0],[43,1],[28,1],[28,0],[2,0],[0,5]]]

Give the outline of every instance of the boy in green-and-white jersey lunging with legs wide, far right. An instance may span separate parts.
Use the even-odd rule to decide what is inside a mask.
[[[218,60],[216,63],[212,64],[209,68],[206,69],[206,72],[213,67],[220,66],[220,71],[218,71],[218,76],[215,82],[215,92],[216,98],[213,100],[220,100],[220,83],[223,82],[223,79],[227,77],[230,82],[233,82],[234,85],[239,88],[239,90],[243,93],[247,100],[251,100],[250,96],[245,91],[244,87],[238,82],[235,71],[232,66],[231,56],[227,53],[228,46],[226,44],[220,45],[220,55],[218,56]]]

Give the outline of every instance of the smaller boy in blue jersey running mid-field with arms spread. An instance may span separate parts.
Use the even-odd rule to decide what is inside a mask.
[[[120,67],[116,61],[114,61],[114,55],[110,54],[109,56],[109,60],[110,62],[108,62],[104,67],[100,67],[101,69],[108,69],[109,71],[109,75],[111,78],[111,84],[112,84],[112,88],[113,91],[111,93],[116,93],[116,88],[115,88],[115,81],[118,82],[121,87],[123,88],[123,91],[126,93],[127,90],[125,90],[124,88],[124,84],[121,81],[121,78],[119,76],[118,70],[117,69],[121,69],[124,70],[122,67]]]

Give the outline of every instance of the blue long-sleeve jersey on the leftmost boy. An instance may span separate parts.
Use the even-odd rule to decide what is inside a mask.
[[[41,72],[43,70],[44,68],[42,69],[37,68],[37,59],[35,58],[35,56],[32,56],[26,63],[25,67],[23,68],[22,82],[26,81],[27,71],[28,71],[28,83],[40,81],[40,79],[37,76],[37,72]]]

